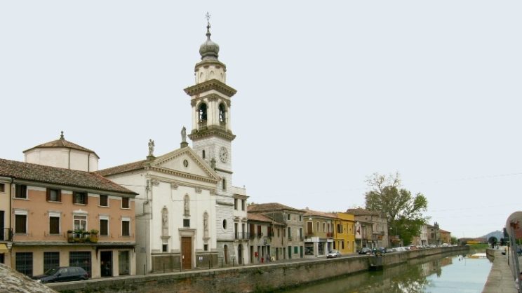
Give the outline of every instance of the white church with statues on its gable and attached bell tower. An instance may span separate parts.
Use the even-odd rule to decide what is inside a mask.
[[[201,44],[194,68],[192,130],[181,131],[180,148],[98,173],[135,197],[136,273],[180,271],[209,266],[248,264],[246,190],[232,186],[230,109],[234,88],[227,86],[227,67],[218,60],[219,46]],[[192,140],[189,147],[187,136]]]

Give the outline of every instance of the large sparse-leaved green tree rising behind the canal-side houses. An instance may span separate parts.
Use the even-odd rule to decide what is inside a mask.
[[[410,191],[401,188],[399,173],[389,176],[374,173],[366,183],[371,189],[365,194],[366,209],[384,214],[390,231],[396,231],[404,244],[411,243],[429,219],[422,214],[428,207],[427,198],[422,193],[412,196]]]

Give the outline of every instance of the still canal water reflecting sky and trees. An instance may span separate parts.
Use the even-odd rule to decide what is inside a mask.
[[[383,271],[357,273],[281,292],[480,293],[490,269],[491,262],[485,258],[439,254]]]

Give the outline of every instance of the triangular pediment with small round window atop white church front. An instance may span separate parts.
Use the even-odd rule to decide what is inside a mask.
[[[206,182],[218,182],[220,176],[210,168],[190,147],[176,149],[159,156],[150,164],[150,168],[181,177],[200,179]]]

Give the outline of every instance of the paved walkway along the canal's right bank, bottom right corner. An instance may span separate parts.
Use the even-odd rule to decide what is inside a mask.
[[[495,259],[491,266],[488,280],[482,293],[518,293],[515,288],[515,279],[511,268],[507,265],[507,255],[502,255],[504,250],[495,250]],[[510,264],[513,262],[510,259]]]

